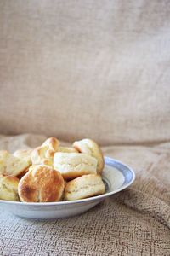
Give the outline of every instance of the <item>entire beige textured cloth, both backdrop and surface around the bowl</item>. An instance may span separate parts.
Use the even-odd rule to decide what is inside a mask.
[[[0,1],[0,133],[92,137],[137,175],[75,218],[1,208],[0,255],[170,255],[169,27],[166,0]]]

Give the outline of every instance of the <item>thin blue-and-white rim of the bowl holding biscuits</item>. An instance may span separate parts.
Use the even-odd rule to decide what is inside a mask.
[[[133,171],[133,169],[129,166],[127,166],[126,164],[124,164],[122,161],[120,160],[116,160],[114,158],[105,156],[105,161],[108,160],[110,162],[116,162],[117,164],[120,164],[122,166],[124,166],[126,169],[128,169],[128,171],[130,171],[133,175],[132,180],[127,183],[122,185],[119,189],[113,190],[111,192],[107,192],[105,194],[102,195],[95,195],[92,197],[88,197],[88,198],[84,198],[84,199],[79,199],[79,200],[74,200],[74,201],[55,201],[55,202],[22,202],[22,201],[7,201],[7,200],[0,200],[0,203],[5,203],[5,204],[10,204],[10,205],[20,205],[20,206],[34,206],[34,207],[49,207],[49,206],[65,206],[65,205],[71,205],[71,204],[79,204],[79,203],[83,203],[83,202],[90,202],[90,201],[96,201],[96,200],[100,200],[100,199],[105,199],[105,197],[108,197],[110,195],[114,195],[124,189],[127,189],[135,180],[135,172]],[[110,164],[105,164],[106,166],[111,166]],[[111,166],[113,167],[113,166]],[[114,167],[116,168],[116,167]],[[118,170],[119,172],[121,172],[118,168],[116,168],[116,170]]]

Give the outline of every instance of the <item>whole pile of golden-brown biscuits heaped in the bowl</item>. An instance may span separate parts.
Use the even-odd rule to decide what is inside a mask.
[[[0,199],[23,202],[74,201],[105,193],[103,154],[91,139],[71,148],[49,137],[41,146],[0,151]]]

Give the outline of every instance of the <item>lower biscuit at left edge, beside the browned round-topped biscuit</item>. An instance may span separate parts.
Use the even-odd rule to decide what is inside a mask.
[[[19,201],[18,184],[17,177],[0,175],[0,199]]]

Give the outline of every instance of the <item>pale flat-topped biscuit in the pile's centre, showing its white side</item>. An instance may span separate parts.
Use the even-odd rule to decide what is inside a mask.
[[[85,174],[96,174],[97,160],[88,155],[80,153],[54,154],[54,169],[59,171],[65,179],[73,179]]]

